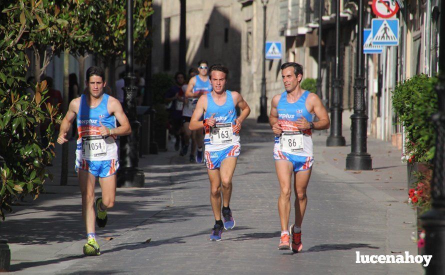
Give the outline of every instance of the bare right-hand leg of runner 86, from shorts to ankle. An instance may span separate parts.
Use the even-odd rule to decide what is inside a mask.
[[[293,189],[295,191],[295,225],[301,227],[307,205],[306,188],[309,183],[312,168],[294,172]]]

